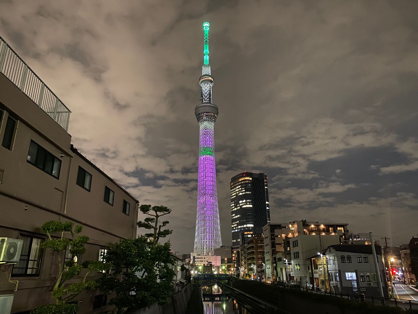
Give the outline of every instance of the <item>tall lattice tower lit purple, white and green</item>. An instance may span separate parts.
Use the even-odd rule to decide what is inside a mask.
[[[197,180],[197,215],[194,253],[213,255],[221,247],[218,196],[216,192],[214,125],[218,106],[212,103],[213,77],[209,65],[209,23],[203,23],[204,57],[201,86],[201,101],[194,113],[199,122],[199,177]]]

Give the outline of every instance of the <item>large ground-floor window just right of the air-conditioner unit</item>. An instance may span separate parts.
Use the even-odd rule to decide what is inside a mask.
[[[13,265],[12,276],[39,276],[43,239],[28,235],[20,236],[20,239],[23,240],[22,252],[18,263]]]

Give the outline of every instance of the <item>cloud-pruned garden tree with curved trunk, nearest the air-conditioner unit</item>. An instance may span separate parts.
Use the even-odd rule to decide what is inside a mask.
[[[78,235],[82,232],[83,226],[77,225],[73,230],[73,223],[70,221],[61,222],[61,221],[46,221],[41,226],[41,232],[46,233],[48,240],[41,243],[41,247],[45,249],[50,249],[53,252],[57,253],[57,263],[58,263],[58,276],[54,284],[54,288],[51,292],[51,296],[55,299],[56,304],[65,304],[66,302],[74,299],[79,293],[84,290],[97,289],[98,283],[95,281],[87,280],[87,276],[93,270],[101,271],[104,269],[104,264],[98,260],[87,260],[82,265],[76,265],[74,263],[74,257],[77,256],[78,260],[80,256],[86,252],[84,248],[84,243],[89,241],[89,237]],[[71,234],[71,239],[66,238],[53,238],[52,234],[61,232],[69,232]],[[69,250],[71,254],[71,260],[66,261],[61,260],[61,252]],[[64,268],[64,265],[66,268]],[[84,277],[81,281],[73,282],[70,285],[66,286],[67,281],[78,276],[83,269],[87,269]]]

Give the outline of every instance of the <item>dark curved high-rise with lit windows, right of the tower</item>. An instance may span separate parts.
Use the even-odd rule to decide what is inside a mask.
[[[231,178],[232,247],[247,243],[262,234],[270,222],[267,175],[242,172]]]

